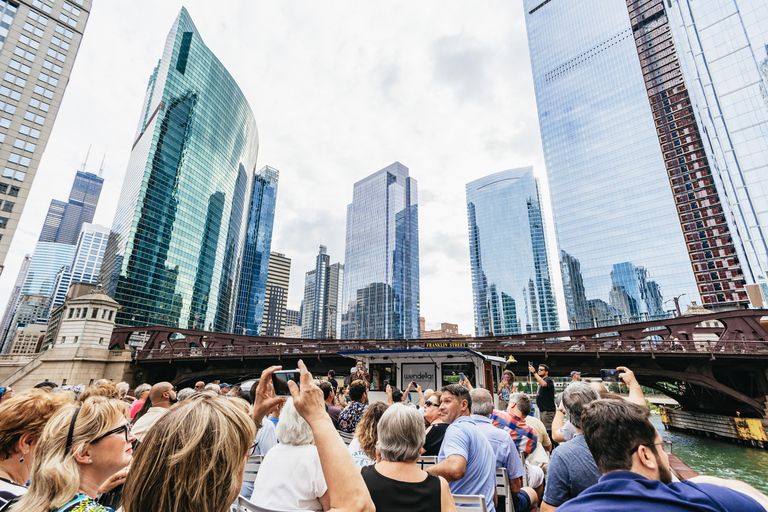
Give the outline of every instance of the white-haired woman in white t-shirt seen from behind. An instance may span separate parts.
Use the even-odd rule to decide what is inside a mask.
[[[328,485],[309,424],[288,399],[277,424],[277,446],[259,467],[250,501],[272,510],[329,510]]]

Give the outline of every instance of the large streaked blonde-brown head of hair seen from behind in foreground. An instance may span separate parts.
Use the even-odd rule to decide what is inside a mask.
[[[123,510],[228,510],[255,438],[253,419],[238,401],[200,393],[175,405],[136,450]]]

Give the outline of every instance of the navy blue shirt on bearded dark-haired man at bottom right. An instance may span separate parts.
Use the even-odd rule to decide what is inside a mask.
[[[570,444],[569,441],[567,444]],[[746,494],[712,484],[648,480],[629,471],[607,473],[600,481],[574,498],[558,512],[764,512]]]

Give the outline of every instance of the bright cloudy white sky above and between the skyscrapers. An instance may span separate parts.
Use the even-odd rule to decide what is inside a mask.
[[[353,184],[399,161],[418,182],[421,316],[427,329],[474,332],[464,187],[505,169],[544,173],[521,0],[94,4],[0,307],[89,147],[87,171],[104,158],[94,222],[112,225],[147,81],[184,6],[250,103],[257,169],[280,171],[272,250],[292,260],[288,307],[321,244],[344,261]]]

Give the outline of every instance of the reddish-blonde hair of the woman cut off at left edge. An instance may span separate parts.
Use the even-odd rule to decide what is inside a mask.
[[[73,398],[67,393],[30,389],[3,402],[0,406],[0,460],[16,452],[22,435],[32,434],[31,441],[39,439],[48,420],[72,403]]]

